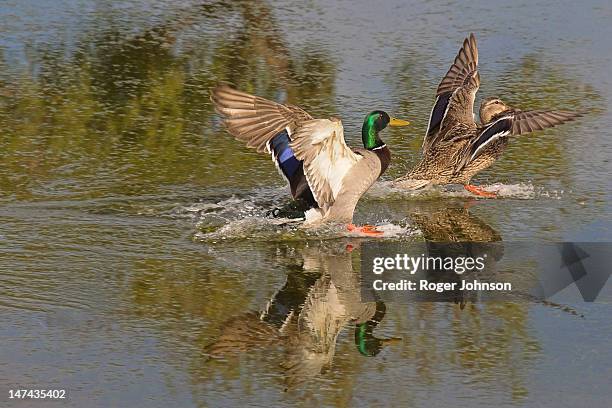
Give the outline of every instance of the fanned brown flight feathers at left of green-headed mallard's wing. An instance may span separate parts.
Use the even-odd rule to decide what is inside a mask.
[[[227,85],[215,88],[211,100],[227,131],[260,153],[267,152],[268,141],[284,129],[291,134],[300,123],[312,119],[297,106],[272,102]]]

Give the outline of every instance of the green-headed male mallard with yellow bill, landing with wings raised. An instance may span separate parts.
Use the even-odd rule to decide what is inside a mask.
[[[314,119],[297,106],[282,105],[225,85],[214,89],[211,99],[229,133],[246,142],[247,147],[272,156],[289,182],[293,198],[310,208],[306,226],[347,223],[351,231],[379,233],[369,225],[352,225],[353,212],[359,198],[391,160],[391,152],[379,132],[408,122],[373,111],[363,122],[364,148],[350,149],[339,119]]]

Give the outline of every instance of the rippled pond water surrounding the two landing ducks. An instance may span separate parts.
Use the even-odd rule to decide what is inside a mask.
[[[388,239],[608,242],[611,21],[607,1],[2,2],[0,405],[34,387],[100,407],[608,406],[609,304],[390,303],[367,356],[353,322],[280,336],[313,291],[359,303],[364,240],[266,219],[287,188],[209,90],[341,117],[349,145],[371,110],[409,119],[355,214]],[[500,199],[392,191],[469,32],[479,98],[587,114],[513,140],[474,180]]]

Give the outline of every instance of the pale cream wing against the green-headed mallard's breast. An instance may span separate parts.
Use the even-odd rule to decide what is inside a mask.
[[[291,148],[304,162],[304,174],[317,203],[331,206],[340,192],[344,177],[362,159],[344,141],[339,119],[303,122],[292,135]]]

